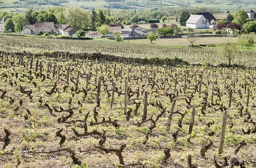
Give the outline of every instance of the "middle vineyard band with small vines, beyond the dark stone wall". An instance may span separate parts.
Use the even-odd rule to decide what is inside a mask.
[[[209,38],[204,38],[209,39]],[[161,40],[161,39],[160,39]],[[163,39],[165,40],[165,39]],[[177,40],[177,39],[173,39]],[[180,48],[165,45],[140,44],[129,40],[129,42],[94,41],[94,40],[72,40],[72,39],[47,39],[37,37],[18,37],[0,35],[0,50],[31,51],[38,52],[72,52],[72,53],[94,53],[111,54],[133,58],[166,58],[178,57],[189,63],[219,64],[227,63],[227,59],[221,56],[222,50],[205,48]],[[233,59],[233,64],[256,66],[256,53],[240,51]]]

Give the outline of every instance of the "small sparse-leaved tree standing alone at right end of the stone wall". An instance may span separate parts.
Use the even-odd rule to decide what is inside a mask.
[[[228,65],[231,64],[231,60],[235,58],[237,54],[236,45],[233,42],[227,41],[222,45],[222,50],[220,51],[220,55],[224,58],[228,59]]]

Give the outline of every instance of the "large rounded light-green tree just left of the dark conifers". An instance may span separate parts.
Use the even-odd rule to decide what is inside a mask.
[[[83,8],[77,6],[67,8],[65,13],[67,24],[77,30],[86,29],[88,27],[88,14]]]

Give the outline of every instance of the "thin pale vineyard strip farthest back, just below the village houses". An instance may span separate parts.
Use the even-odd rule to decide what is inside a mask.
[[[133,40],[134,42],[143,42],[150,43],[148,39]],[[216,45],[223,44],[227,41],[236,41],[234,37],[198,37],[196,44],[197,45]],[[160,45],[186,45],[189,46],[191,43],[186,38],[178,39],[157,39],[154,41],[154,44]]]

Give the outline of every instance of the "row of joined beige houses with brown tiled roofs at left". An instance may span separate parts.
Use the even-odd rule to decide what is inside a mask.
[[[39,22],[34,25],[23,25],[23,34],[37,34],[40,32],[64,36],[76,36],[76,30],[70,25],[55,25],[53,22]]]

